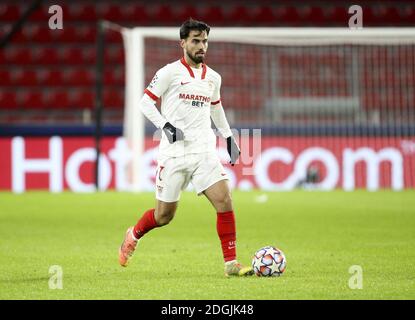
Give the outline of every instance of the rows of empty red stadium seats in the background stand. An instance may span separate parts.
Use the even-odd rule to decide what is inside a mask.
[[[43,117],[93,110],[95,84],[95,37],[98,19],[107,19],[126,26],[179,26],[188,17],[201,19],[212,26],[341,26],[347,24],[348,13],[346,2],[325,1],[324,5],[316,5],[312,1],[211,1],[195,4],[192,1],[59,1],[64,13],[64,29],[50,30],[47,21],[49,5],[55,2],[45,1],[23,26],[12,42],[0,50],[0,112],[2,123],[13,122],[16,112]],[[362,1],[361,1],[362,2]],[[414,26],[415,6],[410,1],[363,1],[365,26]],[[254,5],[255,4],[255,5]],[[3,37],[11,24],[22,15],[28,1],[3,0],[0,3],[0,37]],[[105,72],[104,72],[104,106],[112,110],[111,120],[121,121],[124,100],[124,51],[121,36],[109,32],[106,36]],[[151,41],[151,40],[149,40]],[[226,50],[225,48],[222,48]],[[172,48],[172,52],[179,52]],[[209,63],[222,71],[224,78],[225,101],[233,108],[248,109],[253,106],[265,105],[264,97],[253,91],[239,92],[240,84],[244,86],[261,86],[255,65],[260,65],[261,56],[255,50],[247,50],[239,56],[232,57],[234,52],[226,55],[209,57]],[[388,53],[389,58],[395,56]],[[318,57],[317,57],[318,58]],[[332,57],[331,59],[337,59]],[[373,56],[369,57],[370,59]],[[414,57],[399,57],[413,59]],[[301,92],[292,92],[295,83],[295,66],[298,61],[293,57],[280,56],[284,60],[279,86],[286,96],[305,94],[308,86],[318,86],[316,82],[304,80],[300,85]],[[290,60],[291,59],[291,60]],[[310,57],[309,63],[313,63]],[[365,59],[365,57],[362,57]],[[241,75],[235,68],[223,67],[229,61],[252,64],[254,72]],[[328,61],[332,61],[328,59]],[[146,81],[161,66],[159,61],[149,61]],[[336,64],[337,66],[338,64]],[[307,66],[304,66],[307,67]],[[324,65],[331,68],[330,63]],[[260,67],[259,67],[260,68]],[[332,66],[333,74],[345,72]],[[387,68],[385,66],[385,68]],[[293,71],[294,70],[294,71]],[[319,69],[313,72],[318,73]],[[387,74],[385,72],[385,74]],[[255,78],[257,77],[257,78]],[[368,92],[364,107],[375,105],[389,107],[382,95],[385,83],[400,81],[395,76],[386,76],[382,82],[374,82],[370,66],[364,70],[364,81]],[[402,70],[401,77],[415,84],[414,75]],[[308,81],[308,82],[307,82]],[[348,87],[345,83],[337,83],[335,90],[345,95]],[[324,95],[324,92],[321,94]],[[400,92],[396,91],[395,95]],[[386,98],[385,98],[386,99]],[[390,98],[389,98],[390,99]],[[415,100],[415,97],[414,97]],[[394,101],[399,101],[396,97]],[[396,108],[405,107],[409,101],[401,101]],[[61,113],[59,113],[61,112]],[[55,118],[54,118],[55,119]],[[60,120],[56,118],[55,120]],[[64,117],[73,119],[73,117]]]

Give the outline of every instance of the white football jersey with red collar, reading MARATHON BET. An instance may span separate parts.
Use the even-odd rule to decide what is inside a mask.
[[[144,92],[154,101],[161,98],[161,114],[184,133],[184,141],[170,144],[163,132],[160,155],[215,152],[210,108],[220,102],[220,86],[221,76],[216,71],[206,64],[192,68],[184,58],[157,71]]]

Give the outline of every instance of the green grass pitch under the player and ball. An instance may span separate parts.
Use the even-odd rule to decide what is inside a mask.
[[[258,201],[266,200],[267,201]],[[415,299],[415,192],[233,193],[237,253],[282,249],[280,278],[225,278],[216,216],[182,194],[175,219],[148,233],[128,268],[126,228],[154,194],[0,193],[0,299]],[[62,267],[62,289],[49,268]],[[353,265],[362,289],[351,289]]]

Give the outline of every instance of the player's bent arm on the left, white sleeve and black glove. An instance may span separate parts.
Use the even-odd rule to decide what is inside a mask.
[[[140,110],[145,117],[157,128],[163,129],[170,143],[183,140],[183,132],[168,122],[156,107],[156,102],[163,95],[170,84],[170,71],[168,66],[160,69],[144,90],[140,100]]]

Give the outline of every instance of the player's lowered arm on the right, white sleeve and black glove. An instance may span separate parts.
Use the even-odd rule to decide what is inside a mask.
[[[231,158],[230,163],[235,165],[238,160],[241,151],[238,144],[236,143],[235,137],[232,134],[228,120],[226,119],[225,111],[223,110],[222,102],[220,100],[220,85],[221,81],[216,86],[215,92],[212,97],[212,103],[210,107],[210,117],[219,133],[226,139],[226,146],[228,149],[229,156]]]

